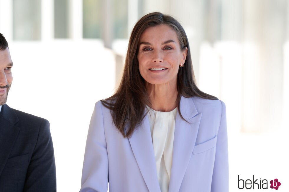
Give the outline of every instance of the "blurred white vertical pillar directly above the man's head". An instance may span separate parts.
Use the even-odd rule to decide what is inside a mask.
[[[0,0],[0,33],[8,43],[13,40],[13,9],[12,0]]]

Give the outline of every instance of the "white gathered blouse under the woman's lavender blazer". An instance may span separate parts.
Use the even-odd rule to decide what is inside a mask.
[[[157,178],[162,192],[169,190],[176,114],[177,108],[170,112],[155,111],[149,108],[148,117],[155,152]]]

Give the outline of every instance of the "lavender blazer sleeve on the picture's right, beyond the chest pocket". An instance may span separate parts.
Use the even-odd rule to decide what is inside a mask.
[[[216,143],[216,156],[214,163],[211,192],[229,191],[229,162],[228,162],[226,105],[223,101],[221,101],[221,106],[222,106],[222,114]]]

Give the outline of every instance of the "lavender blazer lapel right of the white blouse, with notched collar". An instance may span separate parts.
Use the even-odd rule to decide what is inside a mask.
[[[180,189],[193,153],[202,117],[202,113],[198,113],[192,98],[181,97],[180,112],[188,122],[184,121],[177,113],[169,192],[179,191]]]

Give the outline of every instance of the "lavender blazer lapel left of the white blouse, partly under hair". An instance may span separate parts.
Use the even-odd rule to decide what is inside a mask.
[[[127,129],[127,127],[126,127]],[[134,131],[129,138],[134,157],[139,166],[142,177],[149,191],[160,192],[160,185],[157,179],[157,168],[155,165],[155,153],[152,146],[152,135],[150,124],[146,115],[143,123]]]

